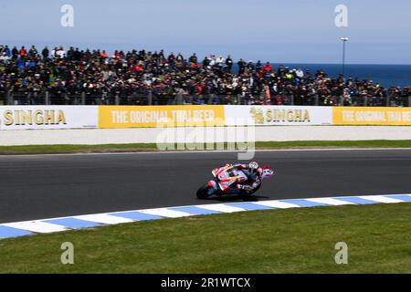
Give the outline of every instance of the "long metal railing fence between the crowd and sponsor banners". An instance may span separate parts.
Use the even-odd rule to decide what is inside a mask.
[[[319,95],[294,96],[283,93],[268,98],[262,95],[218,94],[154,94],[124,92],[30,92],[0,91],[0,105],[298,105],[298,106],[358,106],[358,107],[411,107],[411,96],[321,97]]]

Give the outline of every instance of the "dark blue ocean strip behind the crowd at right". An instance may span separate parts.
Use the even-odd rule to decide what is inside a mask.
[[[304,71],[309,69],[311,73],[315,73],[321,69],[328,74],[329,77],[337,77],[342,72],[341,64],[271,64],[275,70],[280,65],[292,68],[301,68]],[[264,63],[263,63],[264,66]],[[237,70],[237,64],[234,67]],[[411,65],[345,65],[346,78],[359,78],[373,80],[374,83],[380,83],[385,88],[389,87],[406,87],[411,86]]]

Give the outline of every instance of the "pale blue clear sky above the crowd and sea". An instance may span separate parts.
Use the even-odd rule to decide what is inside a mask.
[[[74,26],[60,24],[63,5]],[[348,27],[335,26],[336,5]],[[0,44],[213,53],[246,61],[411,64],[408,0],[0,0]]]

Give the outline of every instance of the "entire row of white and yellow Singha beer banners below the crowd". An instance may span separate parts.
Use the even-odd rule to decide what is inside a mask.
[[[0,107],[0,130],[242,125],[411,125],[411,108],[220,105]]]

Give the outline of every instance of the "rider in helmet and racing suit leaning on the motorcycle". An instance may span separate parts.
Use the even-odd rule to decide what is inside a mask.
[[[246,193],[251,193],[256,190],[262,182],[262,173],[263,170],[258,166],[258,162],[249,162],[248,164],[234,164],[232,165],[233,169],[243,172],[247,179],[240,180],[232,187],[237,188],[238,191],[245,191]],[[230,192],[235,190],[230,187]],[[234,192],[236,193],[236,192]]]

